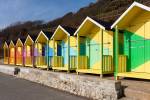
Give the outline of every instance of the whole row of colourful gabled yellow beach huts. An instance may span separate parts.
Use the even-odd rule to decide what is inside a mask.
[[[150,7],[134,2],[112,25],[87,17],[76,30],[6,41],[4,64],[150,79]]]

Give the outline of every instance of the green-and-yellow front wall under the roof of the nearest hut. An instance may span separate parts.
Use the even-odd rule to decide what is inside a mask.
[[[127,71],[150,73],[150,12],[143,12],[124,29]]]

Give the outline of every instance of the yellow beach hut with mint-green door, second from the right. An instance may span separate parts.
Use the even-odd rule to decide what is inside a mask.
[[[87,17],[77,35],[77,73],[109,74],[114,72],[113,32],[110,24]]]

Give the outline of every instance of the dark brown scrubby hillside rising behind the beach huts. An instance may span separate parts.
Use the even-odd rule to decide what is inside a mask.
[[[22,32],[37,35],[40,30],[54,31],[58,25],[78,28],[86,16],[113,23],[135,0],[97,0],[76,13],[69,12],[63,17],[43,23],[43,21],[18,22],[3,29],[0,33],[1,45],[7,40],[13,40]],[[149,0],[136,0],[150,6]],[[71,19],[71,20],[70,20]]]

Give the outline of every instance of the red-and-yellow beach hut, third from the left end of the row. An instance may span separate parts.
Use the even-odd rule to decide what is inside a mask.
[[[24,66],[24,42],[25,38],[18,38],[16,42],[16,65]]]

